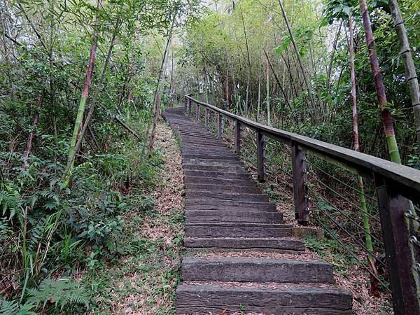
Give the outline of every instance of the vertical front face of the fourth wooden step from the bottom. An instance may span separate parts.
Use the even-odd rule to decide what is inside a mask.
[[[203,227],[186,225],[186,237],[291,237],[290,228]]]

